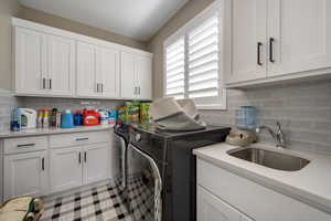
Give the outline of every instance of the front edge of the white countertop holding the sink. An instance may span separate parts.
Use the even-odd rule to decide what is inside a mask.
[[[325,199],[325,198],[316,196],[311,192],[298,189],[295,186],[289,186],[287,183],[280,182],[278,180],[270,179],[263,175],[256,173],[249,169],[244,169],[244,168],[237,167],[234,164],[226,162],[222,159],[215,159],[213,157],[210,157],[210,156],[201,152],[199,149],[193,150],[193,154],[197,158],[206,160],[207,162],[213,164],[217,167],[221,167],[222,169],[231,171],[239,177],[244,177],[253,182],[261,185],[261,186],[269,188],[276,192],[279,192],[287,197],[293,198],[296,200],[299,200],[303,203],[307,203],[313,208],[317,208],[319,210],[322,210],[323,212],[331,214],[331,200],[329,200],[329,199]]]

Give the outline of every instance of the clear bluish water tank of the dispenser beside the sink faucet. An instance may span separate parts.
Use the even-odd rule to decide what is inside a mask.
[[[235,124],[238,129],[254,130],[256,128],[256,107],[241,106],[235,114]]]

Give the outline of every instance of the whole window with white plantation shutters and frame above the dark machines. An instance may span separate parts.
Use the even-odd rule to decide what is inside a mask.
[[[164,42],[164,96],[193,98],[199,108],[225,108],[221,13],[216,2]]]

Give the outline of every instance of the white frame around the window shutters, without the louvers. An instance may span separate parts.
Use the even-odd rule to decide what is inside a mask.
[[[193,98],[193,101],[196,104],[196,107],[199,109],[226,109],[226,90],[224,88],[224,71],[225,71],[225,46],[224,46],[224,0],[217,0],[214,3],[212,3],[210,7],[207,7],[205,10],[203,10],[201,13],[199,13],[196,17],[191,19],[188,23],[185,23],[183,27],[181,27],[177,32],[171,34],[164,42],[163,42],[163,96],[167,96],[167,46],[171,45],[175,41],[178,41],[180,38],[184,38],[184,44],[185,44],[185,97],[189,86],[189,72],[188,72],[188,65],[189,65],[189,33],[195,29],[199,28],[204,21],[206,21],[209,18],[211,18],[213,14],[218,13],[218,96],[215,97],[201,97],[201,98]],[[207,104],[205,101],[209,99]],[[216,102],[215,102],[216,99]],[[203,104],[200,103],[200,101],[204,101]]]

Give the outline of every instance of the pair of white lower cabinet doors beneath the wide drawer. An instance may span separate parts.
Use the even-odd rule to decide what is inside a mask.
[[[58,192],[109,178],[110,144],[51,150],[51,191]]]

